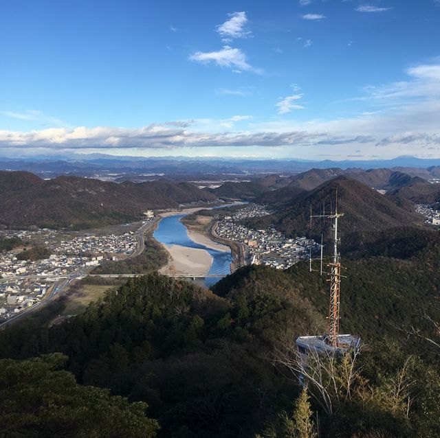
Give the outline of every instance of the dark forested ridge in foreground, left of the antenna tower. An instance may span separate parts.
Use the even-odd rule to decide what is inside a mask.
[[[271,273],[259,275],[271,288],[228,298],[157,274],[132,279],[50,330],[0,332],[0,357],[65,352],[80,382],[148,402],[162,437],[252,437],[297,393],[264,356],[285,330],[324,327]]]

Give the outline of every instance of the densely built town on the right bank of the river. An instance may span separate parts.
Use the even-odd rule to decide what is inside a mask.
[[[215,232],[220,238],[240,242],[248,247],[252,264],[265,264],[277,269],[287,269],[315,253],[320,245],[305,237],[287,238],[273,227],[249,229],[240,223],[247,218],[267,216],[272,211],[265,205],[252,204],[217,223]]]

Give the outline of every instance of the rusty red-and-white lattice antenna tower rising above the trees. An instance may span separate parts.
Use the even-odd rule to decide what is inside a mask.
[[[340,238],[338,237],[338,219],[344,216],[344,213],[338,212],[338,190],[336,190],[336,202],[335,210],[332,211],[332,206],[328,214],[325,213],[325,207],[322,208],[322,214],[314,215],[310,211],[310,226],[313,218],[329,218],[333,221],[333,259],[326,266],[329,271],[324,271],[322,269],[322,235],[321,235],[321,245],[320,245],[320,258],[312,259],[310,253],[310,271],[315,270],[320,272],[320,275],[325,274],[329,276],[327,281],[330,282],[330,305],[329,305],[329,333],[327,336],[327,343],[332,347],[338,347],[338,336],[339,336],[339,320],[340,320],[340,283],[341,283],[341,263],[340,263]],[[320,261],[320,270],[312,268],[312,262],[314,260]]]

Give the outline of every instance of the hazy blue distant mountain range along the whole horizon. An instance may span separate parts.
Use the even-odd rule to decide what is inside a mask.
[[[430,168],[438,166],[440,159],[397,157],[391,160],[301,161],[296,159],[232,159],[188,157],[114,157],[104,154],[71,154],[68,157],[47,156],[37,159],[0,158],[0,170],[25,170],[44,177],[61,174],[91,176],[96,173],[118,174],[120,178],[139,178],[139,174],[182,175],[208,174],[262,174],[282,172],[295,174],[315,169],[378,169],[378,168]],[[404,171],[404,170],[401,170]],[[116,178],[118,176],[115,176]],[[437,172],[440,176],[440,170]]]

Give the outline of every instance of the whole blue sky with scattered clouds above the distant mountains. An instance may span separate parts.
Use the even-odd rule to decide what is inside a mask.
[[[440,0],[0,5],[0,156],[440,158]]]

